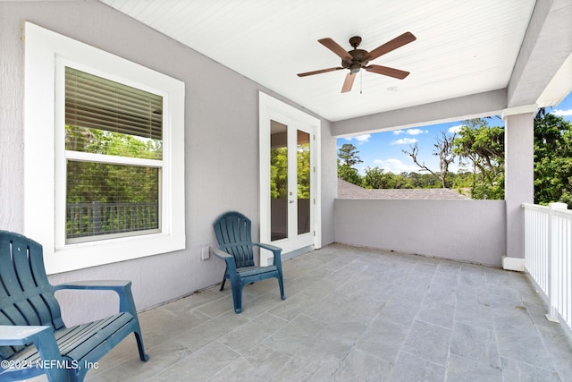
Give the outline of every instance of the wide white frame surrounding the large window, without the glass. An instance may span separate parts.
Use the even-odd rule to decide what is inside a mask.
[[[161,232],[66,243],[65,66],[164,98]],[[48,274],[185,248],[184,82],[26,22],[24,105],[24,233]]]

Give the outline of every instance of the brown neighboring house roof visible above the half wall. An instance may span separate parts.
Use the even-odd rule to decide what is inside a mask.
[[[470,199],[450,189],[369,190],[338,179],[338,199]]]

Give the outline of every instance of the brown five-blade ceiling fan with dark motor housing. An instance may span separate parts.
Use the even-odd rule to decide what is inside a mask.
[[[349,73],[346,76],[346,80],[343,82],[343,86],[341,87],[342,93],[351,90],[351,87],[354,84],[354,80],[356,79],[356,73],[359,72],[360,69],[365,69],[367,72],[374,72],[403,80],[409,75],[409,72],[400,71],[399,69],[394,69],[382,65],[374,65],[374,64],[369,65],[369,62],[381,55],[385,55],[386,53],[389,53],[392,50],[397,49],[398,47],[403,47],[404,45],[413,42],[415,40],[416,37],[413,35],[413,33],[405,32],[402,35],[393,38],[391,41],[388,41],[385,44],[376,47],[371,52],[367,52],[364,49],[357,49],[357,47],[359,47],[359,44],[361,43],[361,38],[359,36],[355,36],[349,38],[349,45],[353,47],[353,50],[347,52],[337,42],[332,40],[332,38],[321,38],[318,40],[320,44],[330,49],[336,55],[340,56],[341,66],[322,69],[314,72],[299,73],[298,76],[306,77],[314,74],[339,71],[341,69],[349,69]]]

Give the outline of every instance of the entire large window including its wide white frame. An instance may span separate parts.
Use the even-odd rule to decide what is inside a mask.
[[[184,249],[184,84],[29,22],[25,75],[24,231],[48,273]]]

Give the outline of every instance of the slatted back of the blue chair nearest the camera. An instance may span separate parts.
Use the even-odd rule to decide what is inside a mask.
[[[0,231],[0,325],[63,327],[60,305],[44,267],[42,246],[18,233]],[[0,347],[9,357],[13,348]]]

